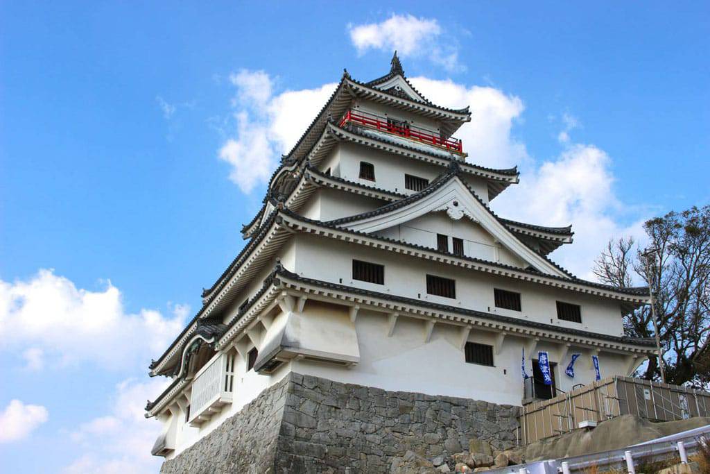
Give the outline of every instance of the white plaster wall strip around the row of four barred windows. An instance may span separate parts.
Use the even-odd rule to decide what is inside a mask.
[[[295,271],[310,278],[497,313],[523,321],[538,321],[608,335],[623,334],[621,305],[612,299],[484,274],[362,245],[346,244],[327,237],[297,235],[295,239]],[[368,284],[351,279],[352,259],[384,264],[385,284]],[[427,273],[456,279],[457,299],[427,295]],[[494,287],[521,293],[523,311],[495,308]],[[557,320],[557,300],[581,306],[582,323]]]

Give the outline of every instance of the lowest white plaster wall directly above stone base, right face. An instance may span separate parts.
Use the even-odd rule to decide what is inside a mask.
[[[386,390],[466,397],[498,404],[520,405],[522,401],[520,362],[523,345],[527,343],[524,338],[508,336],[501,352],[494,355],[495,367],[487,367],[465,362],[464,350],[459,345],[461,333],[454,325],[436,324],[428,343],[424,340],[424,321],[414,318],[398,318],[391,337],[387,335],[388,318],[383,313],[361,310],[355,325],[360,345],[359,364],[344,368],[300,360],[292,362],[293,370]],[[474,329],[468,340],[493,345],[494,338],[493,333]],[[537,350],[549,351],[550,361],[559,362],[557,345],[540,343]],[[584,354],[577,360],[574,379],[564,375],[572,352]],[[526,355],[526,358],[527,372],[531,375],[530,357]],[[602,377],[626,375],[623,356],[602,352],[599,358]],[[574,384],[592,382],[594,369],[589,361],[589,352],[570,348],[565,360],[555,369],[557,387],[568,391]]]

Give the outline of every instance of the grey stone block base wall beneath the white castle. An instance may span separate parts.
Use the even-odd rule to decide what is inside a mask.
[[[517,406],[342,384],[291,373],[163,464],[163,473],[384,473],[393,458],[515,446]]]

